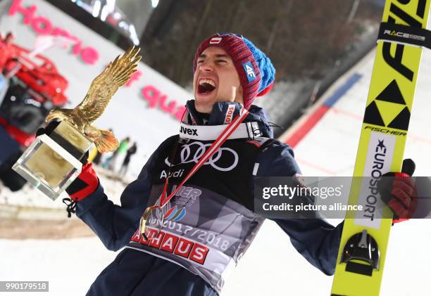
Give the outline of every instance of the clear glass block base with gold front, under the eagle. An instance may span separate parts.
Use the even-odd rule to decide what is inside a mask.
[[[25,150],[12,169],[56,200],[80,174],[82,163],[43,134]]]

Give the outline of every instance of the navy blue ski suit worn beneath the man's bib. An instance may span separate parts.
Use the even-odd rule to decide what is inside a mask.
[[[224,110],[223,103],[216,104],[211,117],[205,119],[206,124],[220,124],[220,118],[225,116]],[[192,110],[192,114],[199,118],[195,110]],[[261,108],[252,106],[244,120],[247,121],[258,121],[264,136],[273,136]],[[161,143],[137,179],[125,188],[121,195],[121,206],[108,200],[100,184],[94,193],[78,202],[77,216],[99,236],[108,250],[125,247],[137,230],[139,218],[148,206],[148,196],[154,181],[151,172],[156,167],[154,160],[158,158],[159,151],[170,145],[172,141],[169,140]],[[257,176],[294,176],[300,173],[292,148],[280,141],[274,141],[268,149],[259,153],[257,162],[260,164]],[[334,273],[342,224],[334,227],[322,219],[274,221],[287,233],[292,245],[308,262],[327,275]],[[125,248],[96,278],[87,295],[174,294],[217,295],[217,292],[201,277],[182,266]]]

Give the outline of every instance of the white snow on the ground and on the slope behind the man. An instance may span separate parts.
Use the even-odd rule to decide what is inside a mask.
[[[373,53],[345,75],[348,78],[357,72],[362,77],[296,146],[296,159],[304,175],[352,174],[372,66]],[[342,82],[343,79],[335,84],[327,96]],[[429,82],[431,52],[424,51],[406,146],[406,157],[416,161],[416,174],[421,176],[430,176],[431,167]],[[111,184],[107,186],[108,191],[118,197],[120,184],[105,182]],[[0,195],[0,203],[4,202],[4,197],[3,200],[1,198]],[[9,195],[8,202],[11,200],[13,198]],[[26,195],[20,196],[20,200],[25,204],[35,200],[35,194],[27,191]],[[46,200],[43,202],[46,203]],[[339,221],[332,222],[336,224]],[[408,221],[394,226],[382,296],[431,295],[430,229],[431,221],[428,220]],[[115,253],[105,250],[95,237],[68,240],[0,239],[0,281],[49,281],[50,292],[44,295],[84,295],[113,257]],[[294,250],[285,233],[268,221],[227,281],[223,295],[329,295],[331,285],[332,278],[308,264]]]

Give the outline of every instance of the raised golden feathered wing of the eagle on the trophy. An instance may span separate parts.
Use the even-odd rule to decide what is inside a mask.
[[[92,123],[104,112],[115,92],[123,86],[137,70],[139,48],[130,47],[123,56],[118,56],[97,76],[89,87],[84,100],[76,106],[80,116]]]

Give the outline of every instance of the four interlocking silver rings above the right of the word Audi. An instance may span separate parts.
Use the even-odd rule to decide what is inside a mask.
[[[192,146],[198,146],[196,151],[194,151],[194,155],[192,155],[192,149],[191,149]],[[189,163],[189,162],[197,163],[204,155],[204,153],[206,152],[206,149],[209,146],[211,146],[211,143],[204,144],[198,141],[183,145],[182,150],[180,152],[180,160],[181,160],[180,163]],[[220,167],[217,165],[217,162],[223,156],[223,153],[232,153],[232,156],[233,156],[232,165],[229,165],[228,167]],[[235,152],[235,150],[232,150],[231,148],[223,147],[223,148],[219,148],[215,153],[213,153],[213,155],[209,157],[209,159],[204,163],[204,165],[211,165],[211,167],[221,172],[229,172],[232,169],[235,169],[235,167],[237,167],[238,159],[239,157],[238,157],[238,154]],[[165,164],[170,166],[168,157],[166,157],[165,159]]]

